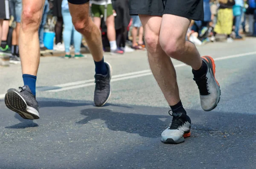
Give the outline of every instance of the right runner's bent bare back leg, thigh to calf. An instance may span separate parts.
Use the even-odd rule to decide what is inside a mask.
[[[169,57],[198,70],[202,65],[200,54],[193,43],[185,40],[190,21],[184,17],[164,14],[160,30],[160,45]]]

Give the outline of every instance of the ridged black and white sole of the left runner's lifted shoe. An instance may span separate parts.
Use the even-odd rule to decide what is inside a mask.
[[[39,112],[26,104],[26,101],[15,89],[9,89],[5,95],[5,104],[8,109],[18,113],[24,119],[39,119]]]

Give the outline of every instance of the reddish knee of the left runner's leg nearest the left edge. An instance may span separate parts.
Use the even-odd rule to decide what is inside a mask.
[[[22,11],[21,26],[23,30],[32,29],[37,31],[40,25],[41,12],[32,7],[24,8]]]

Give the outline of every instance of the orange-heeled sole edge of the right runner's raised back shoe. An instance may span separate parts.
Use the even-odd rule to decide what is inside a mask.
[[[219,85],[218,81],[215,78],[215,62],[214,62],[214,60],[210,56],[203,56],[202,58],[204,59],[204,61],[207,63],[207,65],[210,67],[210,69],[212,71],[213,77],[215,79],[214,82],[215,82],[215,85],[216,85],[217,91],[218,91],[218,98],[217,98],[217,100],[215,102],[215,105],[211,109],[204,109],[204,111],[208,112],[208,111],[211,111],[211,110],[215,109],[215,107],[220,102],[220,99],[221,99],[221,89],[220,89],[220,85]]]

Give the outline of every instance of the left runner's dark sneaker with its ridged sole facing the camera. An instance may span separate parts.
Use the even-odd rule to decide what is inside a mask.
[[[5,104],[12,111],[18,113],[25,119],[38,119],[39,106],[32,95],[29,86],[19,87],[21,91],[16,89],[9,89],[5,95]]]

